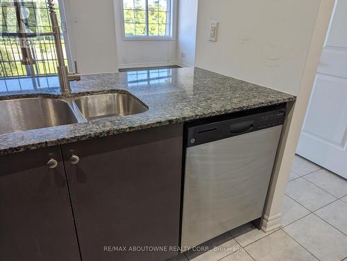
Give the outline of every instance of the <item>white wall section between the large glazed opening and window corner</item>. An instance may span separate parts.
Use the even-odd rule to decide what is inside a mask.
[[[113,1],[65,0],[73,60],[81,74],[118,71]]]

